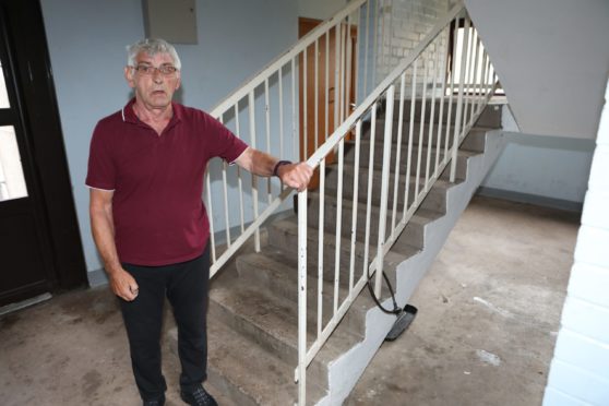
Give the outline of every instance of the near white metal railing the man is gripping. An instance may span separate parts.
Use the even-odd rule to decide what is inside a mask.
[[[456,38],[459,27],[465,34],[457,44],[450,38]],[[295,375],[299,405],[306,404],[307,367],[374,273],[374,292],[380,298],[384,256],[449,164],[447,177],[451,182],[456,180],[457,148],[497,84],[490,59],[459,3],[309,157],[309,165],[319,168],[320,182],[315,192],[319,205],[309,207],[312,192],[298,194],[299,355]],[[378,122],[380,114],[384,118]],[[362,130],[367,122],[369,134]],[[378,127],[383,129],[380,134]],[[380,156],[375,146],[382,147]],[[347,158],[353,165],[346,164]],[[326,203],[334,193],[335,207]],[[312,251],[308,248],[309,225],[318,228]],[[308,310],[309,277],[318,278],[318,306]],[[330,310],[323,306],[327,284],[332,288],[325,290],[333,294]],[[310,333],[314,337],[308,339],[309,311],[317,311],[317,329],[310,330],[317,333]]]

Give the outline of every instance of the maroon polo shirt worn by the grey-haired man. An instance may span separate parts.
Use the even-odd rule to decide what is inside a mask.
[[[176,103],[158,135],[138,119],[133,103],[97,123],[86,184],[115,192],[121,262],[158,266],[192,260],[210,236],[202,201],[207,162],[218,156],[232,163],[247,145],[210,115]]]

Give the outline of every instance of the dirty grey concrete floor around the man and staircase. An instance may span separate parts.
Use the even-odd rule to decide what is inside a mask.
[[[577,228],[575,214],[475,198],[410,300],[417,319],[381,347],[346,405],[539,405]],[[168,347],[168,405],[181,405]],[[0,399],[139,405],[111,292],[73,291],[1,317]]]

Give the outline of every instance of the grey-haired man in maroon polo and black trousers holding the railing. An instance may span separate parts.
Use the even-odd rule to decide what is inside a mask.
[[[93,133],[86,184],[93,237],[121,299],[135,383],[144,405],[163,405],[160,324],[165,297],[178,325],[180,395],[216,405],[206,378],[210,227],[201,200],[207,162],[218,156],[302,190],[312,169],[248,147],[207,114],[174,103],[180,59],[162,39],[128,47],[124,77],[135,97]]]

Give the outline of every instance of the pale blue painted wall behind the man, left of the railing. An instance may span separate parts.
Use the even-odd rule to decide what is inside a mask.
[[[130,98],[124,46],[144,37],[141,0],[41,1],[60,119],[87,268],[101,267],[84,186],[96,122]],[[273,10],[272,16],[268,10]],[[178,45],[183,87],[178,99],[210,109],[297,38],[297,2],[196,2],[198,45]]]

